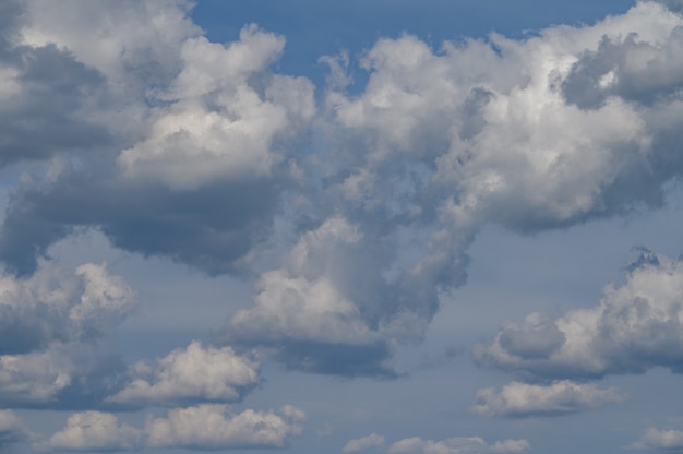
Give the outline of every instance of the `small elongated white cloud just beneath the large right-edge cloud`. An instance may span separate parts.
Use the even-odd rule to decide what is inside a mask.
[[[601,390],[594,384],[568,380],[550,385],[512,382],[501,391],[492,387],[477,392],[477,402],[470,410],[482,416],[526,417],[566,415],[600,408],[623,402],[625,397],[614,389]]]

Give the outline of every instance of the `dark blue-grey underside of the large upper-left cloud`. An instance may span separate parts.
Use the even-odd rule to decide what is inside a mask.
[[[243,271],[271,227],[279,188],[230,181],[195,191],[131,184],[69,172],[49,188],[14,195],[0,231],[0,256],[20,274],[77,227],[100,229],[118,248],[167,256],[208,274]]]

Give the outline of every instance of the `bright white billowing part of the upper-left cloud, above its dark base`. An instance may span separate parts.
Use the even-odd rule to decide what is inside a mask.
[[[227,46],[184,41],[183,69],[161,95],[171,105],[154,113],[144,141],[121,153],[123,172],[180,189],[268,176],[283,158],[274,141],[296,135],[315,112],[308,80],[265,73],[284,45],[253,25]],[[263,80],[261,92],[250,85],[254,77]]]

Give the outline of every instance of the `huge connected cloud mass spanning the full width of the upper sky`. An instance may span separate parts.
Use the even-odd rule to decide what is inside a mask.
[[[32,274],[89,226],[212,275],[256,272],[253,307],[217,338],[297,369],[391,375],[395,346],[419,342],[440,296],[465,282],[482,226],[530,232],[658,206],[683,172],[683,17],[658,2],[524,39],[381,38],[354,93],[344,55],[323,59],[321,106],[309,80],[274,70],[284,37],[250,25],[211,43],[185,1],[8,4],[1,96],[15,103],[3,106],[37,93],[22,88],[33,70],[20,60],[43,57],[15,55],[47,52],[77,92],[68,136],[93,126],[108,140],[63,145],[92,153],[14,189],[0,259]],[[59,104],[63,89],[38,82]],[[316,244],[335,223],[356,238]],[[274,251],[288,252],[264,271]],[[563,336],[530,321],[500,342],[542,362]]]

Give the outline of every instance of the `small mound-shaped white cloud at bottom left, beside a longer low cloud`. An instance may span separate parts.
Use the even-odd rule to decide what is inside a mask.
[[[52,451],[127,451],[140,446],[142,431],[119,422],[108,413],[83,411],[69,417],[67,427],[38,444]]]

